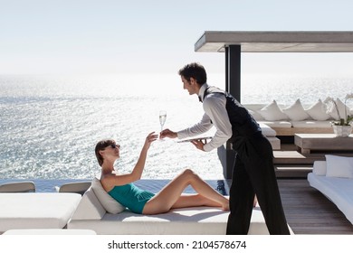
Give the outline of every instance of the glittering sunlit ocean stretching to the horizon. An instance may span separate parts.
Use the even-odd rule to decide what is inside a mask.
[[[224,76],[208,74],[208,83],[224,88]],[[172,130],[202,117],[196,96],[182,88],[177,74],[0,76],[0,183],[90,180],[100,173],[94,147],[105,138],[121,145],[116,168],[129,173],[145,137],[160,131],[159,110],[167,111],[164,127]],[[348,78],[242,78],[243,104],[276,99],[291,105],[297,98],[313,104],[328,96],[344,101],[352,91]],[[223,179],[216,150],[201,152],[175,139],[151,145],[143,178],[171,179],[186,167],[205,180]]]

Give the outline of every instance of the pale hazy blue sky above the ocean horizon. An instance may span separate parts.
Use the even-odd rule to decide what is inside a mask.
[[[353,31],[351,0],[0,0],[0,75],[176,73],[205,31]],[[353,53],[243,53],[243,73],[353,75]]]

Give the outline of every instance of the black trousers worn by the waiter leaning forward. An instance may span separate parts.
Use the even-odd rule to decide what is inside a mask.
[[[273,167],[272,145],[258,133],[239,136],[233,143],[236,151],[230,189],[230,214],[227,234],[246,235],[256,194],[267,229],[272,235],[288,235],[281,196]]]

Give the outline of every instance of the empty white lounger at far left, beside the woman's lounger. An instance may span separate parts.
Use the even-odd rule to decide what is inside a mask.
[[[6,230],[63,229],[80,201],[77,193],[0,193],[0,234]]]

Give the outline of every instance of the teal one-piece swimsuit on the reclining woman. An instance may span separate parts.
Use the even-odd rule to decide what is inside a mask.
[[[146,202],[155,196],[152,192],[139,189],[133,183],[114,186],[108,193],[114,200],[136,213],[142,213]]]

